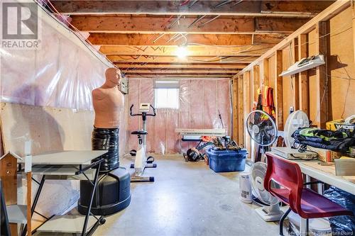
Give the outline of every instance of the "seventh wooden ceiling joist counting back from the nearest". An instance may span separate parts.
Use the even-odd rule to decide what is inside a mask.
[[[126,74],[236,74],[241,69],[121,69]]]

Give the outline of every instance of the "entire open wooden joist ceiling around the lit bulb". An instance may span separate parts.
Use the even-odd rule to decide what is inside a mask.
[[[53,0],[127,77],[230,78],[334,1]],[[338,2],[338,1],[337,1]],[[192,6],[193,4],[193,6]],[[322,14],[322,13],[321,13]],[[198,21],[197,21],[198,20]],[[311,20],[312,21],[312,20]],[[178,46],[187,46],[187,57]],[[245,69],[244,69],[245,70]]]

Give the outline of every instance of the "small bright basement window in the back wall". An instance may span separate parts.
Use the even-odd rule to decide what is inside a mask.
[[[179,108],[179,82],[156,80],[154,82],[155,108]]]

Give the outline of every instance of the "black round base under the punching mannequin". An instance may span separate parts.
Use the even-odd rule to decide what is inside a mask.
[[[80,199],[77,203],[77,210],[82,215],[87,214],[92,187],[90,181],[80,181]],[[129,203],[131,203],[131,176],[126,169],[118,168],[99,175],[91,208],[94,215],[117,213],[129,206]]]

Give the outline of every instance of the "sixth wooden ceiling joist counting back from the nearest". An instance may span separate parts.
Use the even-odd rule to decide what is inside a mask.
[[[173,63],[114,63],[120,69],[244,69],[249,63],[234,63],[234,64],[221,64],[221,63],[201,63],[201,64],[173,64]]]

